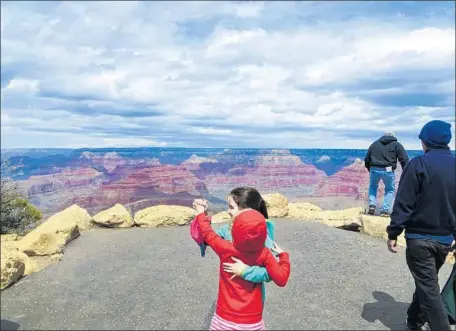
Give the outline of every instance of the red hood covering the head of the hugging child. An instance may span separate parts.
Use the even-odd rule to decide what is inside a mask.
[[[266,220],[256,210],[243,211],[234,219],[232,234],[239,252],[260,251],[267,236]]]

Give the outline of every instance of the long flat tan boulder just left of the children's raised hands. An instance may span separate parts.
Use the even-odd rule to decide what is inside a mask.
[[[142,209],[135,214],[134,223],[145,228],[186,225],[195,217],[192,208],[160,205]]]

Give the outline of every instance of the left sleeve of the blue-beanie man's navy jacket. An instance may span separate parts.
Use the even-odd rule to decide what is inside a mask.
[[[424,170],[421,158],[416,157],[407,163],[402,172],[391,213],[391,223],[386,228],[388,238],[391,240],[396,240],[404,231],[407,222],[411,220],[417,196],[421,192]]]

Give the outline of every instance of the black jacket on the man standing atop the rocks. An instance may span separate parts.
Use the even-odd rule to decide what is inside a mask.
[[[395,137],[383,136],[370,145],[364,158],[364,165],[369,171],[371,167],[392,167],[396,170],[398,160],[404,169],[409,161],[404,147]]]

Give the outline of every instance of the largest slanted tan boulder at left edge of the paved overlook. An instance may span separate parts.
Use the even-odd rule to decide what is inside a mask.
[[[19,240],[19,250],[28,256],[61,254],[63,247],[80,235],[78,223],[84,215],[82,208],[70,208],[55,214]]]

